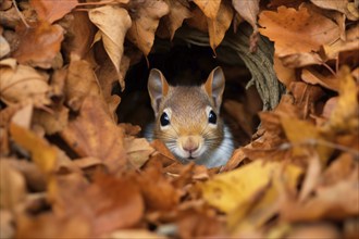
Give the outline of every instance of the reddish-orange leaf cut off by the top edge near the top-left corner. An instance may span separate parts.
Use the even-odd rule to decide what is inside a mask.
[[[77,0],[30,0],[29,3],[37,12],[39,20],[49,23],[53,23],[62,18],[78,4]]]

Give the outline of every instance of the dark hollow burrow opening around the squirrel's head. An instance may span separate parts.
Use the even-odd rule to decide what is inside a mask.
[[[249,142],[259,125],[257,113],[262,110],[262,101],[255,86],[246,89],[251,79],[250,72],[240,58],[226,58],[231,51],[219,47],[214,56],[209,47],[182,39],[172,42],[156,39],[148,58],[144,56],[128,68],[125,90],[120,92],[119,86],[114,89],[121,97],[116,111],[119,122],[139,125],[145,129],[154,120],[147,91],[151,68],[160,70],[171,85],[200,85],[215,66],[221,66],[225,75],[221,116],[232,129],[238,146]]]

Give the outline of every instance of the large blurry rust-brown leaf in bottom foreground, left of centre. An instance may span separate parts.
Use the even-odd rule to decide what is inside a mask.
[[[55,199],[67,218],[87,221],[92,237],[135,226],[144,214],[144,200],[135,175],[116,178],[97,173],[92,184],[83,178],[59,178]]]

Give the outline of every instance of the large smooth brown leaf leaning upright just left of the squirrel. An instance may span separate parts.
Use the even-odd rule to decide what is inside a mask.
[[[124,135],[106,109],[101,98],[85,98],[79,115],[61,136],[78,155],[98,158],[111,172],[117,172],[126,165]]]

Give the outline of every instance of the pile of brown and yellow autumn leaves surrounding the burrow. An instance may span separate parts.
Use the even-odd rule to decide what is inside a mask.
[[[259,2],[1,1],[1,238],[357,237],[357,1]],[[224,167],[117,124],[113,84],[156,36],[186,24],[215,51],[242,21],[288,93]]]

